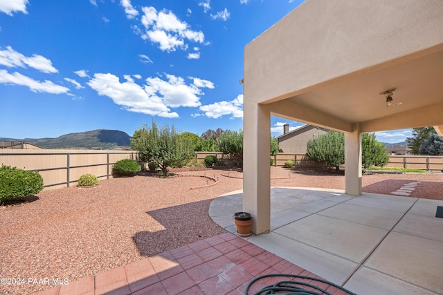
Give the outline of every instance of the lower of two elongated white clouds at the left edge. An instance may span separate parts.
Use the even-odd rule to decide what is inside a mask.
[[[69,88],[54,84],[51,81],[45,80],[44,82],[39,82],[17,72],[10,74],[7,70],[0,70],[0,83],[28,86],[30,91],[33,92],[60,94],[67,93],[69,91]]]

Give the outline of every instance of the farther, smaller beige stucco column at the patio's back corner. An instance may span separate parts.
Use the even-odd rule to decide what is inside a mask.
[[[361,132],[359,124],[345,133],[345,193],[361,195]]]

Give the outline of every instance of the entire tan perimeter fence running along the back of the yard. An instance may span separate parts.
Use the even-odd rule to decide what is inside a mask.
[[[218,152],[199,152],[198,162],[204,162],[206,155],[215,155],[217,159],[229,164],[228,155]],[[306,155],[278,153],[274,166],[283,166],[287,160],[293,160],[298,167],[322,166],[307,160]],[[78,178],[85,173],[96,175],[99,179],[113,178],[112,165],[122,159],[138,160],[138,151],[96,151],[96,150],[58,150],[58,149],[1,149],[0,164],[39,171],[44,180],[44,187],[56,189],[77,185]],[[141,162],[142,169],[147,168]],[[413,168],[429,172],[443,171],[442,156],[390,155],[386,168]]]

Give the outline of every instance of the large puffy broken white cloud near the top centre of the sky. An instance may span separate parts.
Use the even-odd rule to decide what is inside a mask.
[[[143,7],[141,23],[145,27],[143,39],[149,39],[154,44],[159,44],[163,51],[175,51],[177,48],[186,50],[185,41],[204,43],[204,34],[201,31],[191,30],[186,21],[181,21],[170,10],[157,12],[154,7]]]

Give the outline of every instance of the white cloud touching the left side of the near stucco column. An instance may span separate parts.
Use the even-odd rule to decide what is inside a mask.
[[[217,119],[223,115],[232,115],[233,118],[243,117],[243,95],[239,94],[230,102],[222,101],[215,102],[214,104],[208,104],[206,106],[200,106],[200,111],[204,112],[206,117]],[[197,117],[199,114],[194,114]]]

